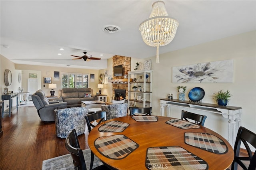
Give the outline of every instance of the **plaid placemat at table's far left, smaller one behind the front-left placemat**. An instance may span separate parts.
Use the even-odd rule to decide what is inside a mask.
[[[124,123],[120,121],[111,121],[101,125],[98,129],[100,132],[122,132],[124,131],[130,124]]]

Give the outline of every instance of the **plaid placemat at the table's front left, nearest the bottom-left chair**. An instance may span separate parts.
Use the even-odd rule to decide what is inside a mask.
[[[122,134],[102,136],[94,141],[96,149],[110,159],[122,159],[139,147],[139,144]]]

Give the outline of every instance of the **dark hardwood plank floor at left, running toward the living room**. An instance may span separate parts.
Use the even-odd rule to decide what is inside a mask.
[[[56,136],[55,123],[42,123],[34,106],[19,107],[11,117],[5,114],[2,130],[1,170],[41,170],[43,160],[69,153],[65,139]],[[89,148],[87,136],[78,136],[82,149]]]

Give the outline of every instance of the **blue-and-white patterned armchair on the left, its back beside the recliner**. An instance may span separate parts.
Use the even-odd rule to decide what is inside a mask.
[[[87,114],[86,107],[69,107],[55,111],[56,135],[59,138],[66,138],[72,129],[76,129],[77,135],[85,131]]]

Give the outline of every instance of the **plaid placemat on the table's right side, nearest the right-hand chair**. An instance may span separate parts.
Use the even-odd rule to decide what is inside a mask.
[[[185,132],[185,143],[215,154],[228,152],[225,142],[209,133]]]

